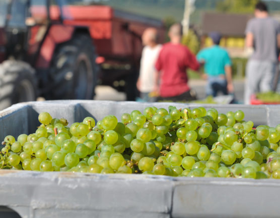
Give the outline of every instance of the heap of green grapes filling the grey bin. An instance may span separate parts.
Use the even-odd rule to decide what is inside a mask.
[[[253,128],[240,110],[151,106],[69,127],[38,119],[35,133],[5,137],[1,169],[280,179],[280,125]]]

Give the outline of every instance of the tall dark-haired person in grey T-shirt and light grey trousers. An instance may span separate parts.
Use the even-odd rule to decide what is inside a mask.
[[[252,50],[246,66],[245,104],[250,104],[252,94],[272,89],[280,47],[280,25],[268,15],[267,6],[258,2],[254,14],[245,30],[246,47]]]

